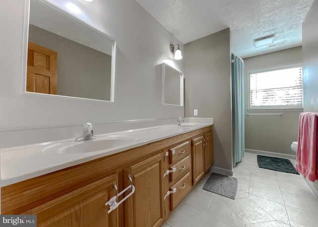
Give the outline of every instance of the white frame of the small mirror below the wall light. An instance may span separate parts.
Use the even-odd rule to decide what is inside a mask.
[[[180,104],[168,104],[165,103],[165,67],[169,67],[170,69],[176,71],[178,74],[180,74]],[[161,103],[162,105],[169,105],[169,106],[177,106],[177,107],[183,107],[184,106],[184,85],[183,85],[183,73],[172,66],[161,63]]]

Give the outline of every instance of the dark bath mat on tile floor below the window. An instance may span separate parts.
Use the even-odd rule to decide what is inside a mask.
[[[257,165],[259,168],[270,169],[284,173],[298,174],[292,162],[286,158],[276,158],[257,155]]]

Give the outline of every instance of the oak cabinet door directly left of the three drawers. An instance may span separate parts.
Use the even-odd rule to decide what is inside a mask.
[[[163,206],[163,152],[125,170],[125,186],[131,182],[135,193],[125,201],[126,227],[161,227]]]

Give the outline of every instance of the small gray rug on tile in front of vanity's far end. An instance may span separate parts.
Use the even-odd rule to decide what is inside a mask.
[[[218,173],[212,173],[203,189],[235,200],[238,191],[238,179]]]

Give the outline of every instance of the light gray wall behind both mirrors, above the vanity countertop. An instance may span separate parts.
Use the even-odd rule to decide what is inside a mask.
[[[66,7],[65,1],[49,1]],[[69,2],[79,7],[81,20],[117,41],[114,103],[22,95],[28,0],[1,0],[1,130],[184,116],[183,107],[161,104],[160,64],[168,61],[183,71],[183,60],[169,52],[170,43],[180,41],[134,0]]]

